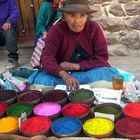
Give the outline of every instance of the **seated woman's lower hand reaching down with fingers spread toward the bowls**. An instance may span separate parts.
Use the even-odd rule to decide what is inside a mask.
[[[66,88],[67,91],[75,91],[79,89],[79,82],[77,79],[72,77],[70,74],[68,74],[66,71],[60,71],[59,76],[63,78],[63,80],[66,82]]]

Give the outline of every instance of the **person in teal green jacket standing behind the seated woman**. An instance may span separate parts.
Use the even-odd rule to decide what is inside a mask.
[[[45,39],[50,27],[61,17],[61,12],[57,11],[58,7],[59,0],[46,0],[41,5],[36,23],[38,37]]]

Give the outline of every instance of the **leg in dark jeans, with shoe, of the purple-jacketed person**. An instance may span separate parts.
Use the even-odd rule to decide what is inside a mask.
[[[8,69],[15,68],[18,64],[18,48],[17,48],[17,33],[15,28],[11,27],[4,32],[5,34],[5,47],[8,53]]]

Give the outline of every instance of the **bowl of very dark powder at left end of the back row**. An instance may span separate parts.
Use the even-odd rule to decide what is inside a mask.
[[[8,105],[16,101],[17,94],[14,90],[3,90],[0,92],[0,102],[5,102]]]

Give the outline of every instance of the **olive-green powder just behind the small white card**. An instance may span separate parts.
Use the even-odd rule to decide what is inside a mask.
[[[106,114],[114,114],[114,115],[117,115],[118,113],[120,113],[121,110],[113,107],[113,106],[109,106],[109,105],[106,105],[106,106],[102,106],[100,108],[97,108],[95,110],[95,112],[100,112],[100,113],[106,113]]]

